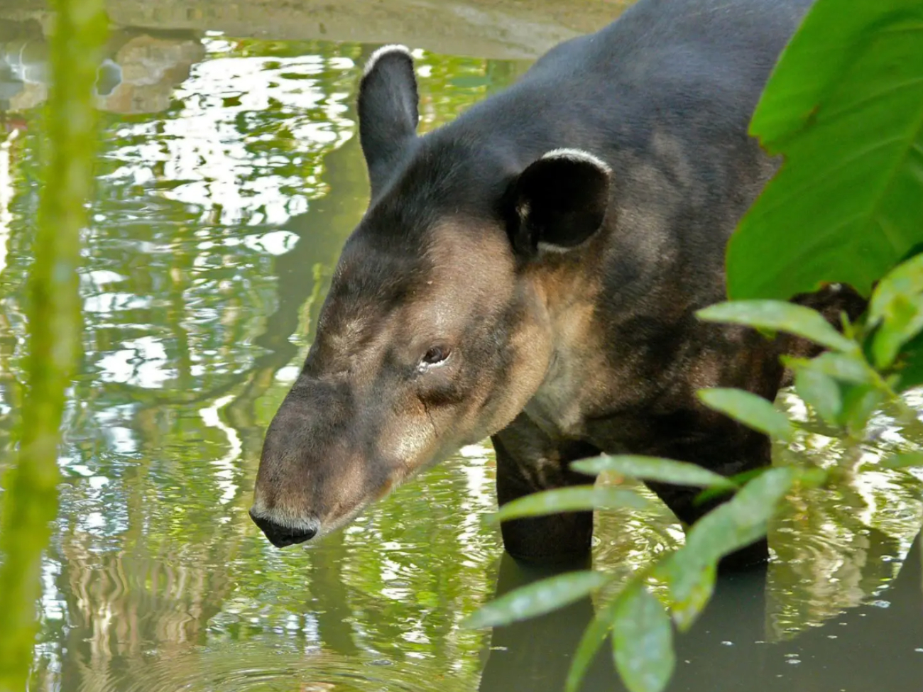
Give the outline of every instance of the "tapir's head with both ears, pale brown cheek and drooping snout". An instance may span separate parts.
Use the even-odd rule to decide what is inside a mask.
[[[372,201],[259,465],[251,516],[279,546],[342,527],[521,412],[556,352],[549,293],[608,202],[589,154],[523,155],[478,121],[417,137],[402,47],[372,56],[358,108]]]

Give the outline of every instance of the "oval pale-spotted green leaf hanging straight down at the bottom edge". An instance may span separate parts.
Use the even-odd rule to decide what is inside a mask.
[[[630,692],[662,692],[676,665],[664,606],[640,581],[619,597],[613,626],[618,674]]]

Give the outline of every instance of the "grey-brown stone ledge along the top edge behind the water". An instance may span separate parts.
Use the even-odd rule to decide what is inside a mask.
[[[533,58],[605,26],[629,0],[109,0],[114,23],[280,41],[406,43],[436,53]],[[46,18],[8,0],[0,18]]]

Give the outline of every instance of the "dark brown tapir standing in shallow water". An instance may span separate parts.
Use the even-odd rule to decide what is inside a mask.
[[[725,299],[725,245],[778,168],[749,119],[809,5],[640,0],[423,137],[412,54],[373,54],[371,197],[266,434],[251,516],[270,542],[317,540],[488,436],[501,505],[592,482],[569,464],[600,453],[769,464],[769,439],[696,390],[773,400],[804,345],[695,312]],[[802,298],[831,316],[860,300]],[[686,525],[713,507],[651,487]],[[593,515],[501,531],[521,560],[581,559]]]

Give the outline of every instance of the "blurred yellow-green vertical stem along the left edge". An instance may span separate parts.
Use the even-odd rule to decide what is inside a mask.
[[[56,0],[48,150],[29,278],[28,396],[18,460],[0,495],[0,692],[27,688],[41,595],[42,551],[57,514],[57,448],[78,360],[77,266],[96,140],[93,84],[107,22],[102,0]]]

